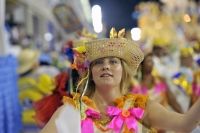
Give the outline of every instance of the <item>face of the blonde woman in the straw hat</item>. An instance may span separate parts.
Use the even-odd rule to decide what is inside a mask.
[[[122,78],[121,60],[116,57],[100,58],[92,62],[92,78],[99,87],[119,87]]]

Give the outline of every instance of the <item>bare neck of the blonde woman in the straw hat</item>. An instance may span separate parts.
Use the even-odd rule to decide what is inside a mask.
[[[102,91],[101,91],[102,90]],[[107,91],[103,91],[107,90]],[[113,101],[121,97],[119,88],[96,88],[93,100],[100,112],[105,112],[107,106],[112,105]]]

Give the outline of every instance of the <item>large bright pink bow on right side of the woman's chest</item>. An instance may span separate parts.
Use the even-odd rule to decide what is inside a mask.
[[[135,132],[137,132],[137,119],[142,118],[144,110],[141,108],[131,108],[127,111],[130,113],[130,115],[125,117],[122,115],[123,110],[114,106],[109,106],[107,109],[107,114],[110,117],[113,117],[113,119],[108,124],[108,128],[112,129],[115,133],[120,133],[123,124],[125,124],[128,129],[133,129]]]

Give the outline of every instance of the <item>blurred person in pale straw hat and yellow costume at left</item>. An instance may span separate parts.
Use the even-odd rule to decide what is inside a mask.
[[[50,67],[47,58],[41,59],[41,53],[33,49],[23,49],[18,56],[18,62],[19,99],[25,132],[30,125],[36,126],[33,102],[52,93],[55,88],[54,76],[58,74],[58,71]]]

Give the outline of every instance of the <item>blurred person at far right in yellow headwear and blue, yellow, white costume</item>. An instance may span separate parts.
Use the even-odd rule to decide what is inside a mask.
[[[188,111],[191,105],[192,82],[193,82],[193,50],[182,48],[180,50],[180,67],[172,76],[172,83],[177,101],[184,112]]]

